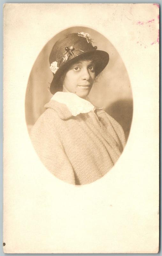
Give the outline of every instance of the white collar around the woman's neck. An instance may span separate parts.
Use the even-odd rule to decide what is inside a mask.
[[[98,108],[88,101],[88,97],[87,100],[84,100],[72,92],[56,92],[51,100],[65,104],[73,116],[77,116],[80,113],[88,113]]]

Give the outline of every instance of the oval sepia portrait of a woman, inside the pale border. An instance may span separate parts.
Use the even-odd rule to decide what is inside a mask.
[[[84,185],[114,166],[130,131],[130,87],[119,53],[95,30],[68,28],[45,45],[29,76],[26,123],[53,175]]]

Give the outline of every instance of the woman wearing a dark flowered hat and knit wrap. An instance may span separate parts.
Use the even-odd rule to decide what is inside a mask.
[[[87,98],[109,61],[84,32],[57,41],[49,62],[54,94],[32,128],[33,146],[42,163],[70,184],[91,183],[106,174],[125,145],[122,127]]]

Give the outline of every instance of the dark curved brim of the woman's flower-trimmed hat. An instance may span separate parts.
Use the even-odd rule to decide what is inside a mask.
[[[68,71],[70,66],[80,59],[92,59],[96,61],[95,67],[95,75],[98,76],[99,73],[107,66],[109,61],[109,55],[105,51],[93,50],[89,52],[83,52],[80,55],[74,57],[73,59],[65,62],[62,66],[57,70],[54,75],[54,78],[50,84],[50,92],[55,94],[57,91],[61,91],[61,86],[59,83],[59,78],[62,76],[63,72]]]

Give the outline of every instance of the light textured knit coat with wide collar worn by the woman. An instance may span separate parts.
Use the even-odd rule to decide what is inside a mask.
[[[103,109],[73,116],[56,100],[45,105],[31,131],[42,163],[56,178],[75,185],[105,175],[125,145],[122,127]]]

